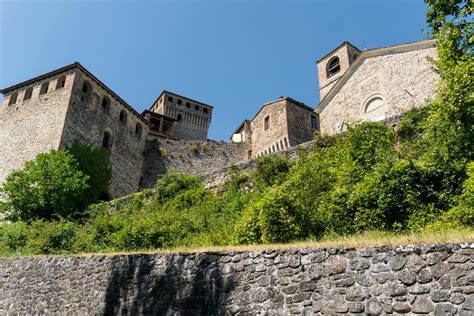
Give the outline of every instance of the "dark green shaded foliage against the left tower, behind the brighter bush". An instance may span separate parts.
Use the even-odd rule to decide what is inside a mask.
[[[93,148],[78,141],[72,143],[67,151],[78,162],[79,170],[89,176],[87,180],[89,192],[87,193],[88,201],[85,201],[86,204],[96,202],[107,190],[112,177],[109,152],[104,148]]]

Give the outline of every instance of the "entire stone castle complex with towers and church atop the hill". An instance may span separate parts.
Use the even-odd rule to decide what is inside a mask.
[[[0,183],[38,153],[79,140],[110,152],[107,194],[116,198],[152,186],[168,169],[205,174],[310,141],[315,131],[339,133],[367,120],[393,124],[433,98],[439,79],[428,57],[435,46],[426,40],[361,51],[344,42],[316,62],[315,108],[289,97],[265,103],[229,143],[207,139],[211,105],[163,91],[138,113],[74,63],[1,90]]]

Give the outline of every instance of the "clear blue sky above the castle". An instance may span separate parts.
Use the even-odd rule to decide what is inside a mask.
[[[0,87],[74,61],[138,111],[162,90],[214,105],[228,139],[279,96],[319,102],[315,60],[426,37],[422,0],[0,0]]]

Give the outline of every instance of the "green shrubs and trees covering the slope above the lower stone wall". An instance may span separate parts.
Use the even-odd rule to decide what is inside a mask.
[[[0,252],[288,243],[374,230],[432,235],[462,228],[472,240],[474,63],[466,22],[472,9],[464,2],[430,2],[427,21],[439,41],[433,61],[438,95],[406,113],[397,131],[363,123],[341,135],[315,135],[314,153],[301,152],[295,162],[261,157],[250,176],[235,172],[217,193],[197,177],[170,172],[153,189],[79,214],[42,208],[47,216],[30,216],[37,214],[33,207],[25,217],[7,202],[5,212],[17,216],[0,226]],[[81,181],[85,188],[87,178]]]

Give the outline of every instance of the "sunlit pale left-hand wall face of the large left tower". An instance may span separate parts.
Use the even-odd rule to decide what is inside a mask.
[[[67,76],[65,86],[56,89],[57,80],[63,75]],[[38,153],[59,148],[74,76],[70,70],[5,94],[0,106],[0,184]],[[45,82],[49,82],[48,92],[39,95]],[[24,100],[30,87],[33,94]],[[18,93],[17,102],[8,105],[14,93]]]

